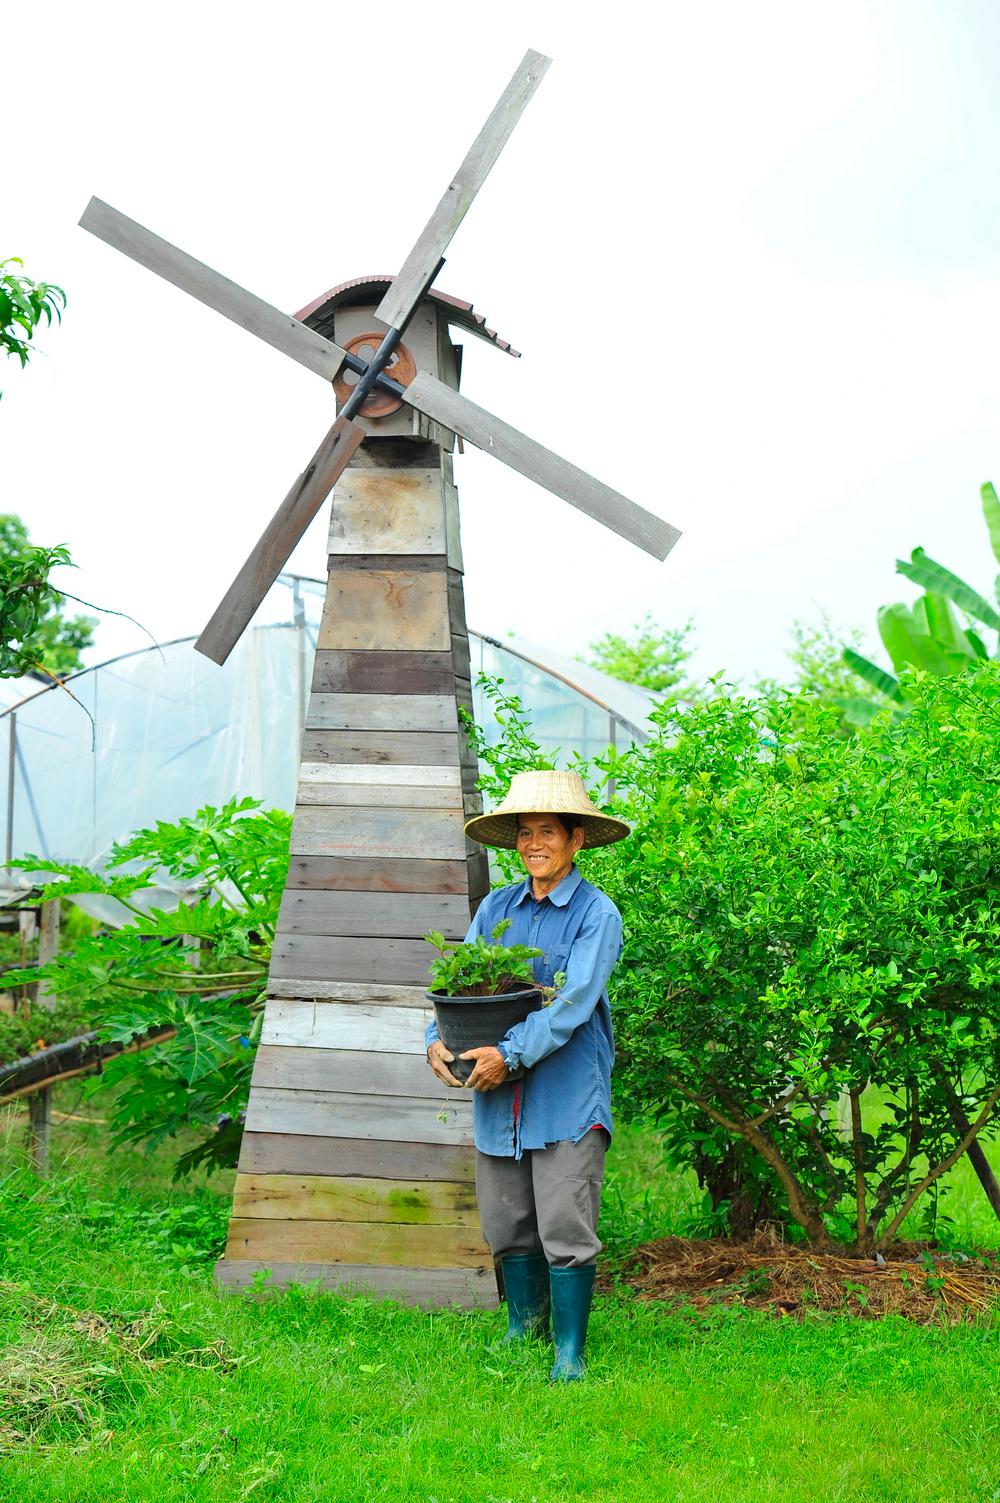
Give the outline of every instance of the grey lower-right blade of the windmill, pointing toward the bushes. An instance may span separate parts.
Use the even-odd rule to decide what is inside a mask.
[[[656,517],[635,500],[621,496],[611,485],[602,485],[598,479],[577,469],[568,460],[559,458],[550,449],[535,443],[534,439],[501,422],[492,412],[477,407],[466,397],[460,397],[451,386],[436,380],[427,371],[418,371],[405,392],[405,400],[423,412],[426,418],[433,418],[442,427],[462,434],[477,449],[492,454],[493,458],[510,464],[520,475],[544,485],[553,496],[568,500],[577,511],[585,511],[588,517],[611,528],[618,537],[635,543],[656,559],[665,559],[671,552],[680,532],[669,522]]]

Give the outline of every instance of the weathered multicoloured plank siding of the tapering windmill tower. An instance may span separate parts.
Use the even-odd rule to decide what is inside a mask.
[[[442,460],[445,461],[442,466]],[[496,1303],[472,1102],[427,1067],[430,947],[487,890],[460,729],[468,628],[450,458],[368,440],[334,491],[329,589],[292,864],[244,1135],[224,1287]]]

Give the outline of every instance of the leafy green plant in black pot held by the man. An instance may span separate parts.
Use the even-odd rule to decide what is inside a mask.
[[[424,935],[438,951],[430,963],[427,999],[433,1003],[441,1037],[454,1055],[448,1069],[463,1082],[472,1075],[475,1060],[460,1060],[460,1054],[496,1046],[508,1028],[550,999],[552,987],[538,986],[531,969],[541,950],[502,942],[510,923],[502,918],[496,924],[490,935],[493,944],[481,935],[463,944],[448,944],[436,930]],[[510,1079],[523,1073],[517,1070]]]

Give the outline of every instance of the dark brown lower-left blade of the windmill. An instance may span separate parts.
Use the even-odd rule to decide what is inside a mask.
[[[364,439],[364,428],[350,418],[337,418],[311,461],[299,475],[268,526],[254,544],[250,558],[226,591],[215,615],[194,643],[198,652],[224,663],[275,579],[289,561],[310,522],[347,469]]]

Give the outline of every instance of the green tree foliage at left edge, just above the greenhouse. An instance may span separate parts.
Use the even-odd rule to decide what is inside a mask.
[[[0,678],[39,667],[62,676],[81,666],[93,642],[92,616],[63,616],[53,568],[72,565],[69,552],[35,547],[20,517],[0,514]]]

